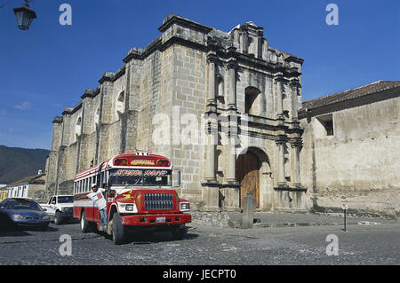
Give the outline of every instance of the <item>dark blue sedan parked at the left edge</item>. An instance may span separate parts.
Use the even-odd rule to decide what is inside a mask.
[[[39,227],[46,230],[50,217],[35,200],[10,198],[0,202],[0,226]]]

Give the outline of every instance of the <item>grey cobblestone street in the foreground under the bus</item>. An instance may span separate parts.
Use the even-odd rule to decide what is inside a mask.
[[[71,239],[71,255],[60,255]],[[328,256],[327,236],[338,237],[338,255]],[[188,226],[184,240],[167,232],[132,235],[115,246],[100,233],[80,232],[79,224],[51,224],[46,232],[0,232],[0,264],[123,264],[123,265],[282,265],[282,264],[399,264],[400,225],[353,224],[256,227],[250,230]]]

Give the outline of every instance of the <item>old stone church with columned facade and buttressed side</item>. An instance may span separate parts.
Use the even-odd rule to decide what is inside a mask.
[[[271,47],[252,22],[229,32],[169,15],[161,35],[53,120],[48,193],[127,152],[170,158],[195,210],[305,210],[300,179],[303,59]]]

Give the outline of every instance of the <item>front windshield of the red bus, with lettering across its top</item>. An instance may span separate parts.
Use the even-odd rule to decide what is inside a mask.
[[[111,169],[110,185],[171,186],[172,170],[164,169]]]

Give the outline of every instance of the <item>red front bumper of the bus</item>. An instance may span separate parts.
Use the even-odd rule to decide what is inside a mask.
[[[190,223],[191,218],[186,213],[123,215],[121,222],[124,226],[179,225]]]

